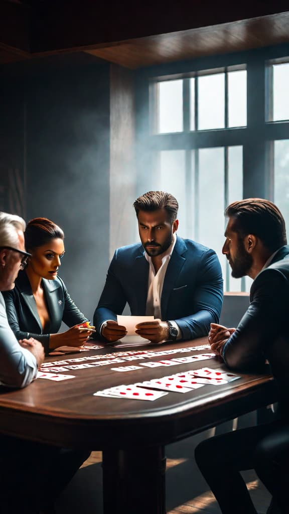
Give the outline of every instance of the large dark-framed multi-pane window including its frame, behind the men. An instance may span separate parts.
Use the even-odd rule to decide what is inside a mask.
[[[227,291],[248,291],[252,281],[233,279],[222,255],[225,207],[269,198],[289,227],[288,56],[283,45],[141,72],[151,117],[147,105],[139,193],[175,194],[179,235],[216,251]]]

